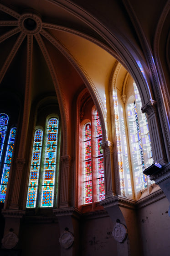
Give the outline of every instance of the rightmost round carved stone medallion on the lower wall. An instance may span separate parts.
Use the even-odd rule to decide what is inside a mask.
[[[122,243],[126,239],[127,233],[128,231],[123,224],[116,223],[112,235],[117,242]]]

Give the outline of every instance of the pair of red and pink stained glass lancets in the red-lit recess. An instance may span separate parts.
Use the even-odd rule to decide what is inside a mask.
[[[101,123],[95,111],[93,124],[86,123],[83,127],[84,204],[105,198],[102,141]],[[92,149],[95,151],[93,154]]]

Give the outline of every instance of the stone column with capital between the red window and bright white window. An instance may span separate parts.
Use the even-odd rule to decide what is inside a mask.
[[[104,182],[105,182],[105,197],[113,197],[116,194],[115,175],[113,166],[113,144],[106,141],[102,145],[104,156]]]

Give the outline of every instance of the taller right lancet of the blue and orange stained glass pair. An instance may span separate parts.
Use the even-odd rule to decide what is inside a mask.
[[[58,119],[50,118],[47,124],[46,133],[46,149],[41,190],[41,207],[53,207],[57,159],[57,139]]]

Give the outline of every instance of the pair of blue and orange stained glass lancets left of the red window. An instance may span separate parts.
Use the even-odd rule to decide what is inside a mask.
[[[43,139],[42,129],[35,131],[26,208],[53,207],[58,142],[56,117],[48,119],[45,132]]]

